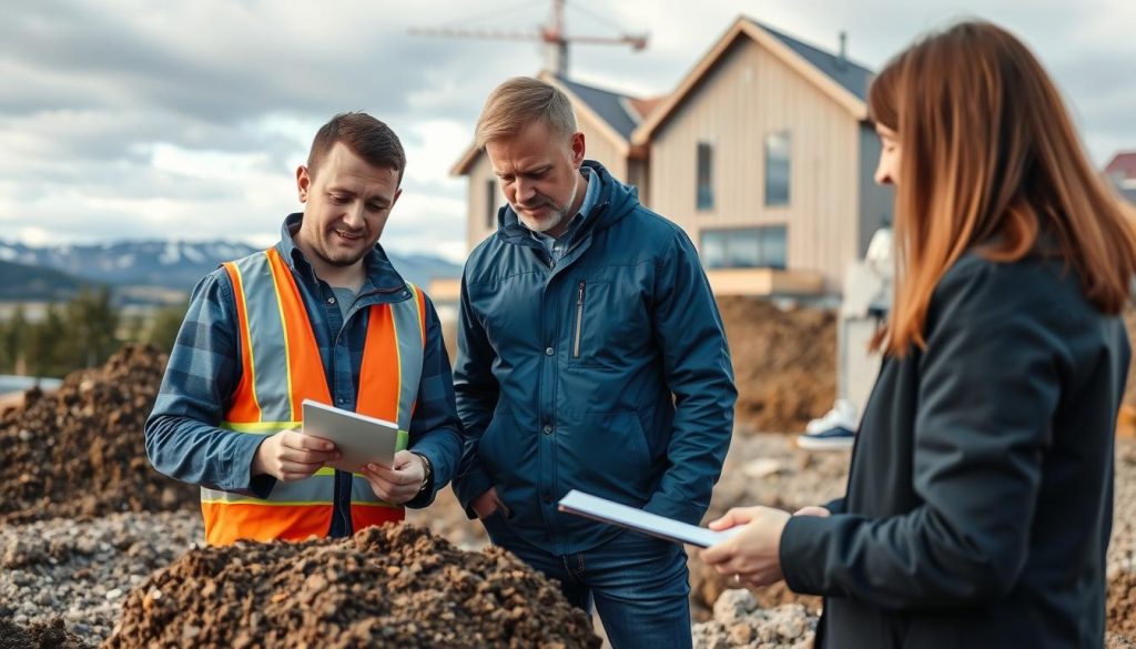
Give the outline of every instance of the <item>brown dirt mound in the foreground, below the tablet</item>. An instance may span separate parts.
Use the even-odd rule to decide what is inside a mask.
[[[103,647],[599,647],[559,588],[500,549],[411,525],[192,550],[133,590]]]

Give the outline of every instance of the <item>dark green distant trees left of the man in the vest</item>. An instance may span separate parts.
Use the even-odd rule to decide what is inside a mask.
[[[70,301],[50,305],[36,322],[17,307],[0,323],[0,374],[62,377],[102,365],[126,342],[150,342],[168,352],[185,309],[164,307],[152,318],[127,322],[106,286],[81,289]]]

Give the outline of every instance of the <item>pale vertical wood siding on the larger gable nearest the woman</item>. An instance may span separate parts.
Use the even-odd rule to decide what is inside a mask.
[[[840,292],[857,257],[859,122],[749,38],[741,38],[651,142],[652,208],[696,246],[703,228],[787,226],[787,269]],[[787,207],[765,206],[765,138],[788,131]],[[699,142],[713,145],[715,206],[695,207]]]

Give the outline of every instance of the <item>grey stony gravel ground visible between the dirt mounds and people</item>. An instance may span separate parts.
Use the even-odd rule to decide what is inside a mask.
[[[1122,440],[1118,444],[1110,574],[1136,571],[1136,441]],[[788,509],[824,502],[843,491],[846,463],[846,452],[804,454],[793,449],[785,436],[738,435],[715,491],[711,514],[741,504]],[[484,546],[479,525],[466,519],[450,493],[431,509],[411,513],[409,519],[429,526],[460,548]],[[125,594],[202,538],[201,516],[195,510],[5,525],[0,527],[0,609],[9,609],[11,622],[19,625],[62,617],[68,630],[85,641],[100,642],[117,623]],[[700,619],[711,619],[709,609],[728,584],[718,583],[717,575],[705,574],[696,559],[692,560],[691,574],[694,608],[699,611],[701,607]],[[757,640],[766,636],[763,630],[769,624],[783,626],[788,616],[808,625],[815,618],[815,606],[808,599],[797,599],[783,589],[749,596],[754,601],[750,611],[754,619],[743,619],[745,615],[738,613],[740,607],[745,613],[747,600],[732,596],[741,597],[741,604],[729,600],[733,608],[728,622],[715,618],[708,623],[710,626],[700,625],[695,631],[695,638],[702,639],[700,647],[758,646]],[[793,602],[802,607],[794,608]],[[788,605],[777,609],[782,613],[772,615],[768,610],[782,604]],[[737,642],[751,633],[738,626],[743,622],[752,630],[750,642]]]

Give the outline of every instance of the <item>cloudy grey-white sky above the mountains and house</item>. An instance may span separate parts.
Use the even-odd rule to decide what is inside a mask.
[[[267,246],[301,206],[295,168],[335,113],[366,110],[407,150],[384,246],[460,261],[466,182],[450,169],[486,94],[542,65],[548,0],[0,0],[0,240],[31,246],[228,240]],[[570,76],[671,91],[740,16],[879,69],[919,34],[980,17],[1056,80],[1097,167],[1136,149],[1131,0],[568,0],[569,34],[648,33],[648,49],[574,45]]]

